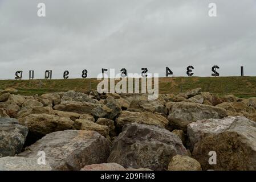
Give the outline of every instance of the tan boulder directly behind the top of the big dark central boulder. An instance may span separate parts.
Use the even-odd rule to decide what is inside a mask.
[[[140,113],[139,117],[135,120],[136,123],[143,123],[147,125],[155,125],[160,127],[166,127],[169,123],[168,119],[159,114],[153,114],[150,112]]]

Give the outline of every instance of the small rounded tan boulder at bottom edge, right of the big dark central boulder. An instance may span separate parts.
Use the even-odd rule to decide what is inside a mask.
[[[202,171],[200,163],[189,156],[176,155],[172,158],[168,171]]]

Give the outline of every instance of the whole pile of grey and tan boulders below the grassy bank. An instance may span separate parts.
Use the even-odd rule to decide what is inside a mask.
[[[256,98],[17,92],[0,92],[0,170],[256,169]]]

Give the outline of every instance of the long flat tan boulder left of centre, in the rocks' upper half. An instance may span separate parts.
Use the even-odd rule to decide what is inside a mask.
[[[55,105],[54,109],[79,114],[92,114],[95,107],[96,105],[91,102],[68,102],[68,104]]]

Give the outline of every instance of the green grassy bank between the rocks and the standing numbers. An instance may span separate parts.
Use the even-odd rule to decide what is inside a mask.
[[[41,82],[41,84],[40,84]],[[76,90],[96,89],[96,78],[68,80],[0,80],[0,89],[16,88],[19,94],[33,95]],[[118,81],[116,81],[118,82]],[[179,93],[201,87],[204,92],[234,94],[237,97],[256,97],[256,77],[163,77],[159,78],[160,93]]]

